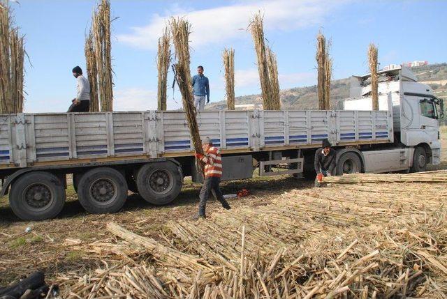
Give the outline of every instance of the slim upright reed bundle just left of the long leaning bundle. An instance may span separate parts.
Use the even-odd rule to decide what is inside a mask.
[[[156,67],[159,71],[159,85],[158,85],[158,109],[166,110],[166,98],[168,89],[168,70],[170,62],[170,38],[169,31],[166,28],[163,31],[163,36],[159,38],[159,52],[157,53]]]

